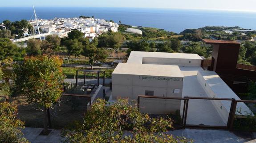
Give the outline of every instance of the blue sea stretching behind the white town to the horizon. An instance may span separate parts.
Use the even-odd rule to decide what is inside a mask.
[[[41,19],[94,16],[123,24],[155,27],[180,33],[185,29],[205,26],[239,26],[256,30],[256,12],[210,10],[158,9],[158,8],[92,8],[92,7],[36,7]],[[31,19],[33,7],[0,7],[0,22]]]

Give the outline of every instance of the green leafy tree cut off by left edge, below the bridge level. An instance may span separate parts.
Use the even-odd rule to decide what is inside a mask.
[[[10,39],[0,38],[0,60],[14,56],[18,49],[19,48],[13,44]]]

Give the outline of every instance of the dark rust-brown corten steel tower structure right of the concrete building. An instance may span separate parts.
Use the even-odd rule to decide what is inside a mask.
[[[218,73],[228,85],[232,85],[233,81],[256,81],[256,71],[244,69],[242,67],[245,65],[237,64],[240,43],[209,39],[203,39],[203,42],[213,46],[211,66],[208,70]]]

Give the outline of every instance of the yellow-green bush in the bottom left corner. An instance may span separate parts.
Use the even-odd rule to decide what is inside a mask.
[[[16,120],[17,112],[16,105],[0,103],[0,143],[28,143],[22,137],[21,128],[24,128],[24,122]]]

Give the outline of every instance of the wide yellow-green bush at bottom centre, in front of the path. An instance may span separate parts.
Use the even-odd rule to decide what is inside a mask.
[[[141,114],[134,103],[126,99],[105,106],[98,99],[86,113],[82,124],[62,132],[69,143],[183,143],[185,138],[175,138],[164,132],[172,127],[170,118],[150,118]],[[129,134],[125,134],[125,129]]]

